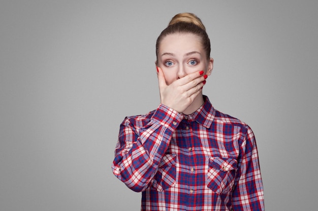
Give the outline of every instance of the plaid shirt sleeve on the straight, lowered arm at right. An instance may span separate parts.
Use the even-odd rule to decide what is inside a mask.
[[[236,186],[232,194],[233,210],[264,211],[264,193],[255,136],[249,126],[241,146]]]

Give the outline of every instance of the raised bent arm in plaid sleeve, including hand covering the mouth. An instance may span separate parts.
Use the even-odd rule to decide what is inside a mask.
[[[180,113],[201,93],[205,80],[203,71],[196,71],[168,86],[160,67],[157,73],[161,104],[148,123],[129,118],[122,122],[112,164],[114,175],[137,192],[151,185],[172,134],[183,118]]]

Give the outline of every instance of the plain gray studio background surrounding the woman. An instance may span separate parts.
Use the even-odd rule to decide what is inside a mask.
[[[317,1],[1,1],[0,209],[139,210],[119,124],[157,107],[155,40],[193,12],[204,94],[255,132],[266,210],[316,210]]]

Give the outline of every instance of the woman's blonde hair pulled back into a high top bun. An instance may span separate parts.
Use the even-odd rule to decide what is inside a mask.
[[[211,45],[208,34],[200,18],[193,13],[179,13],[175,15],[167,28],[158,36],[156,41],[156,57],[158,61],[158,52],[161,41],[164,37],[174,33],[192,33],[201,38],[202,48],[205,51],[207,59],[210,59]]]

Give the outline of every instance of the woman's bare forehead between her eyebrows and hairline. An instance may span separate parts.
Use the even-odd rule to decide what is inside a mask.
[[[159,46],[160,54],[203,52],[201,38],[192,33],[173,33],[165,36]]]

